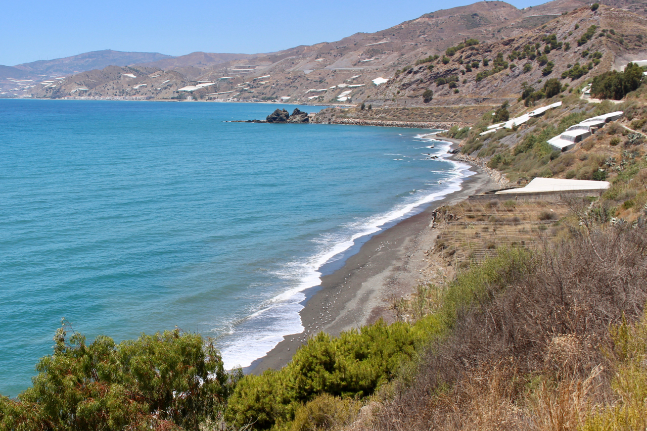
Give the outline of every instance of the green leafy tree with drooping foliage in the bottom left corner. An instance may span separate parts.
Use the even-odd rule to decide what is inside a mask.
[[[226,373],[211,341],[164,331],[115,344],[91,344],[56,331],[54,353],[36,366],[31,388],[17,400],[0,397],[0,429],[197,430],[216,419],[236,378]]]

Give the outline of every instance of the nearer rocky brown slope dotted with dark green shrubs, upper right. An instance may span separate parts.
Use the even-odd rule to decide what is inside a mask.
[[[622,28],[622,32],[614,28]],[[552,49],[547,39],[551,35]],[[558,78],[573,87],[609,71],[619,58],[647,58],[643,38],[647,38],[645,17],[608,6],[600,6],[595,12],[580,8],[522,36],[465,47],[445,56],[446,64],[442,56],[421,65],[410,58],[411,69],[384,85],[369,88],[360,97],[373,105],[393,104],[394,98],[398,105],[408,106],[469,105],[488,100],[500,103],[505,98],[517,98],[524,82],[542,87],[545,80]],[[556,43],[561,46],[555,47]],[[496,60],[499,53],[501,61]],[[576,65],[586,69],[586,74],[562,78],[563,72]],[[433,100],[425,103],[422,94],[428,90],[433,91]]]

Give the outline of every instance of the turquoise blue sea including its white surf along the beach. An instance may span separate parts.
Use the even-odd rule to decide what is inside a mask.
[[[0,394],[63,318],[201,333],[248,367],[302,331],[324,264],[470,175],[428,129],[229,122],[277,107],[0,100]]]

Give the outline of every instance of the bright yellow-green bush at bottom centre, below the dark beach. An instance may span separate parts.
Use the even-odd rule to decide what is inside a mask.
[[[338,338],[319,333],[285,368],[247,375],[239,381],[225,417],[237,426],[253,423],[254,429],[266,430],[287,425],[298,408],[318,395],[342,399],[371,395],[395,377],[413,356],[415,346],[441,332],[442,327],[431,320],[413,326],[380,321],[360,331],[346,331]]]

